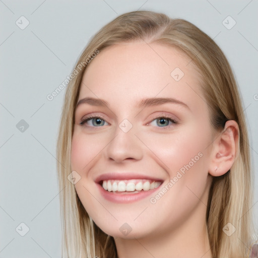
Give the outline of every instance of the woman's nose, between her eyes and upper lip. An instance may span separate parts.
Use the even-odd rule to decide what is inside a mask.
[[[135,135],[136,130],[133,126],[128,132],[122,127],[124,124],[117,125],[110,143],[105,148],[106,158],[117,163],[124,160],[140,160],[143,157],[143,144]],[[128,124],[125,124],[128,126]]]

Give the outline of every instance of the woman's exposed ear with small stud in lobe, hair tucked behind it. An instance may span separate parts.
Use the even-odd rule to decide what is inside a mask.
[[[224,130],[213,142],[209,173],[221,176],[232,167],[239,152],[239,127],[236,121],[228,120]]]

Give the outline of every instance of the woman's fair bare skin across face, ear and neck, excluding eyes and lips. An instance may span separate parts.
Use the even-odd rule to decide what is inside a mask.
[[[71,168],[81,176],[75,187],[83,206],[114,237],[119,258],[212,257],[205,219],[208,193],[212,176],[226,173],[234,162],[238,126],[227,121],[223,132],[211,129],[201,76],[189,60],[170,46],[122,43],[102,50],[83,76],[79,100],[101,98],[110,106],[77,107]],[[179,81],[170,76],[175,68],[184,73]],[[188,108],[171,103],[137,107],[152,97],[175,98]],[[159,123],[155,117],[164,113],[177,123]],[[101,115],[105,122],[80,125],[88,114]],[[127,133],[118,126],[123,119],[133,125]],[[155,204],[150,198],[157,191],[134,203],[115,204],[100,195],[94,182],[107,172],[134,171],[164,180],[161,190],[198,153],[202,157]],[[124,223],[132,228],[127,235],[119,230]]]

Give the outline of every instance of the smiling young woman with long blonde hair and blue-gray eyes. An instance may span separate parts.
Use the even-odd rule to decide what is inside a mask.
[[[57,142],[64,257],[248,257],[243,109],[195,25],[137,11],[80,56]]]

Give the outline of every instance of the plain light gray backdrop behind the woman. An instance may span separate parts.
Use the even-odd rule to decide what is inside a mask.
[[[52,101],[46,96],[71,74],[98,29],[138,9],[192,22],[226,54],[247,116],[255,173],[250,211],[258,224],[257,1],[0,0],[0,258],[60,257],[55,144],[64,90]],[[29,21],[24,30],[16,25],[21,16]],[[228,16],[236,21],[230,30],[223,25]],[[21,119],[29,124],[23,133],[16,127]],[[29,227],[25,236],[16,231],[21,222]]]

